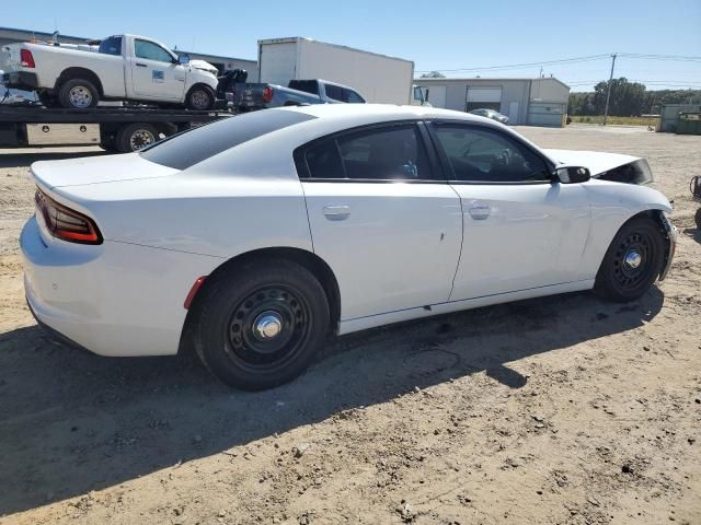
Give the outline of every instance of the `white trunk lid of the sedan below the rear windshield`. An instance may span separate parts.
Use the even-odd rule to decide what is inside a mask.
[[[36,183],[48,190],[85,184],[164,177],[180,173],[172,167],[146,161],[138,153],[41,161],[33,163],[31,171]]]

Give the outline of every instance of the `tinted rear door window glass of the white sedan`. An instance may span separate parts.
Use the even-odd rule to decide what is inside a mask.
[[[430,168],[416,126],[374,128],[322,141],[307,150],[311,178],[425,180]]]

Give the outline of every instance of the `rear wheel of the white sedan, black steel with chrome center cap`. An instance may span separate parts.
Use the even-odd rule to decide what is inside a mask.
[[[219,380],[243,390],[291,381],[329,335],[329,301],[319,280],[287,259],[249,261],[207,282],[195,349]]]

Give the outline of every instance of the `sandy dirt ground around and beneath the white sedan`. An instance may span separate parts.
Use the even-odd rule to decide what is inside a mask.
[[[0,523],[701,523],[701,137],[520,128],[646,156],[676,207],[669,278],[349,336],[287,386],[231,390],[189,357],[53,342],[24,304],[31,162],[0,152]],[[59,153],[60,151],[60,153]]]

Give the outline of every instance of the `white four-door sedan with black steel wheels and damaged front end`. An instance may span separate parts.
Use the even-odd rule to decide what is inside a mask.
[[[102,355],[193,343],[246,389],[290,381],[332,332],[588,289],[634,300],[676,242],[645,160],[430,107],[268,109],[32,173],[38,322]]]

